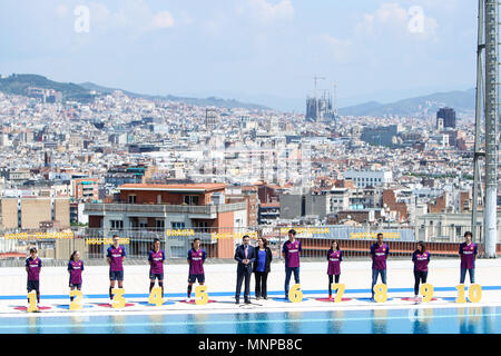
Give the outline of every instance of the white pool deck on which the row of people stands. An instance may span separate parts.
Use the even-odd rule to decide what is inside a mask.
[[[320,301],[316,298],[327,297],[326,261],[302,263],[301,288],[302,303],[289,303],[284,298],[284,263],[272,264],[268,275],[268,300],[254,298],[254,276],[252,277],[252,304],[243,304],[243,289],[240,304],[235,305],[236,263],[235,264],[206,264],[205,277],[209,303],[195,305],[181,303],[186,299],[188,265],[165,265],[165,299],[167,305],[160,307],[148,305],[147,294],[149,288],[149,266],[126,265],[124,289],[125,297],[130,306],[125,308],[110,308],[102,306],[108,304],[108,267],[88,266],[84,271],[84,304],[82,310],[68,310],[69,288],[68,273],[65,267],[42,267],[40,276],[40,306],[46,307],[39,313],[32,314],[16,307],[27,306],[27,276],[23,267],[0,268],[0,315],[108,315],[108,314],[207,314],[207,313],[259,313],[259,312],[305,312],[305,310],[335,310],[335,309],[385,309],[385,308],[430,308],[430,307],[480,307],[501,306],[501,259],[478,259],[475,268],[475,284],[482,287],[482,298],[479,303],[456,304],[459,285],[459,259],[433,259],[430,263],[428,283],[434,287],[434,298],[430,303],[416,303],[403,300],[413,297],[413,264],[411,260],[387,261],[389,300],[385,303],[372,303],[371,297],[371,261],[345,260],[342,263],[340,283],[345,284],[342,303]],[[379,280],[381,283],[381,280]],[[291,287],[294,277],[291,279]],[[470,285],[466,275],[466,293]],[[195,294],[195,287],[193,296]]]

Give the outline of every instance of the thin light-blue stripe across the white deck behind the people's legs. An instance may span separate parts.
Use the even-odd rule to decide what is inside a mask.
[[[434,287],[434,291],[455,291],[458,290],[455,287]],[[501,290],[501,286],[482,286],[482,290]],[[304,290],[303,294],[327,294],[327,289],[312,289]],[[387,293],[414,293],[414,288],[389,288]],[[366,294],[371,293],[371,289],[345,289],[344,294]],[[207,291],[210,297],[234,297],[235,291]],[[250,293],[250,295],[255,295]],[[284,290],[271,290],[268,295],[284,295]],[[65,299],[69,298],[69,295],[41,295],[41,299]],[[91,299],[100,299],[100,298],[109,298],[109,294],[84,294],[85,298]],[[126,298],[148,298],[149,294],[125,294]],[[166,293],[164,294],[166,298],[184,298],[186,297],[186,293]],[[0,300],[16,300],[16,299],[26,299],[27,295],[21,296],[0,296]]]

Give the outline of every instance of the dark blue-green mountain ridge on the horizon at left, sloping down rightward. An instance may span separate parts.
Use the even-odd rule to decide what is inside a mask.
[[[0,78],[0,91],[10,95],[18,96],[27,96],[27,89],[29,87],[43,88],[43,89],[55,89],[62,93],[63,100],[73,100],[80,102],[89,102],[92,101],[96,96],[99,95],[108,95],[114,92],[115,90],[121,90],[125,95],[131,98],[145,98],[150,100],[170,100],[170,101],[180,101],[186,102],[188,105],[195,106],[214,106],[214,107],[225,107],[225,108],[244,108],[244,109],[261,109],[267,110],[268,107],[252,103],[252,102],[242,102],[235,99],[223,99],[216,97],[209,98],[183,98],[176,96],[151,96],[151,95],[143,95],[122,89],[107,88],[102,86],[95,85],[92,82],[84,82],[84,83],[72,83],[72,82],[57,82],[52,81],[43,76],[39,75],[18,75],[14,73],[7,78]],[[96,95],[91,95],[90,91],[96,91]]]

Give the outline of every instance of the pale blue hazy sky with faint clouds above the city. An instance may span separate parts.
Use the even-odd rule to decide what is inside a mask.
[[[76,9],[85,6],[85,13]],[[2,0],[0,73],[340,106],[474,87],[472,0]],[[86,28],[88,23],[88,31]],[[77,29],[76,29],[77,27]]]

